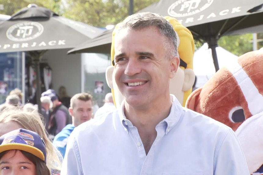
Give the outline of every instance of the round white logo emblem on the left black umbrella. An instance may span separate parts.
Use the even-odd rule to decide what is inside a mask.
[[[12,41],[29,41],[39,37],[44,31],[44,27],[37,22],[17,23],[6,31],[6,36]]]

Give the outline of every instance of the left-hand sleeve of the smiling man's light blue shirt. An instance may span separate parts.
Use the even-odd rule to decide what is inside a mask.
[[[70,134],[67,142],[66,153],[60,175],[83,175],[80,152],[74,131]]]

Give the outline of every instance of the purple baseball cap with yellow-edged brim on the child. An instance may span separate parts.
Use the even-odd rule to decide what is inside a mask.
[[[29,152],[46,163],[45,142],[34,131],[20,128],[2,135],[0,153],[13,149]]]

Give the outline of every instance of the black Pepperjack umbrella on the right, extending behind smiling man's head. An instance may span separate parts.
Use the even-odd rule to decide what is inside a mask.
[[[155,12],[178,19],[193,33],[195,39],[203,39],[209,44],[215,69],[218,71],[215,50],[218,39],[229,33],[239,34],[240,29],[246,28],[246,31],[249,31],[252,30],[250,27],[263,24],[262,6],[262,0],[160,0],[139,12]],[[95,38],[96,44],[93,40],[87,41],[68,53],[98,50],[99,53],[109,53],[112,37],[109,32],[105,33],[103,40],[99,40],[100,37]]]

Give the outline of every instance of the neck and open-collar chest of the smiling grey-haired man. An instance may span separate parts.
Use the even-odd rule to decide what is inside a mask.
[[[132,122],[133,126],[138,129],[146,154],[157,136],[156,125],[168,117],[171,106],[172,100],[170,96],[162,100],[154,100],[147,107],[141,107],[141,110],[131,107],[126,102],[124,103],[124,114]]]

